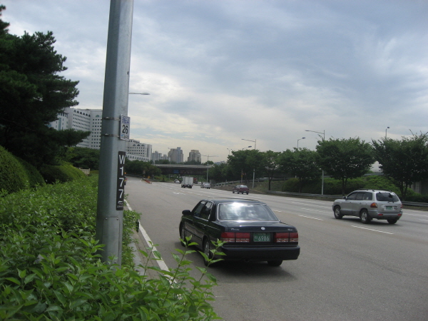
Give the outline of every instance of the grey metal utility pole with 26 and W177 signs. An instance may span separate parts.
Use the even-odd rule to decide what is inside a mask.
[[[96,240],[103,262],[121,265],[133,0],[111,0],[98,178]]]

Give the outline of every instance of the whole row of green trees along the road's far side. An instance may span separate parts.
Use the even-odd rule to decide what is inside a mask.
[[[399,188],[402,199],[409,187],[428,179],[428,133],[413,134],[395,140],[381,138],[371,143],[360,138],[320,140],[315,151],[293,148],[282,152],[244,150],[233,151],[227,163],[215,165],[209,170],[209,178],[216,181],[295,177],[302,186],[325,175],[342,182],[345,195],[347,183],[370,173],[370,168],[379,162],[382,173]]]

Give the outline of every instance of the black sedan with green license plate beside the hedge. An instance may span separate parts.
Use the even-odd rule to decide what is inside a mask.
[[[279,266],[283,260],[297,260],[300,254],[297,229],[282,223],[275,213],[258,200],[210,198],[200,200],[193,210],[183,210],[180,238],[191,235],[191,242],[208,258],[211,241],[226,242],[218,250],[224,260],[267,261]],[[208,261],[204,258],[205,265]]]

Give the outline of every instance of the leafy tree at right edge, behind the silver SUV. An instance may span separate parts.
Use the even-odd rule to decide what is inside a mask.
[[[403,200],[413,183],[428,178],[428,133],[403,137],[401,141],[382,138],[372,143],[379,168],[397,185]]]

